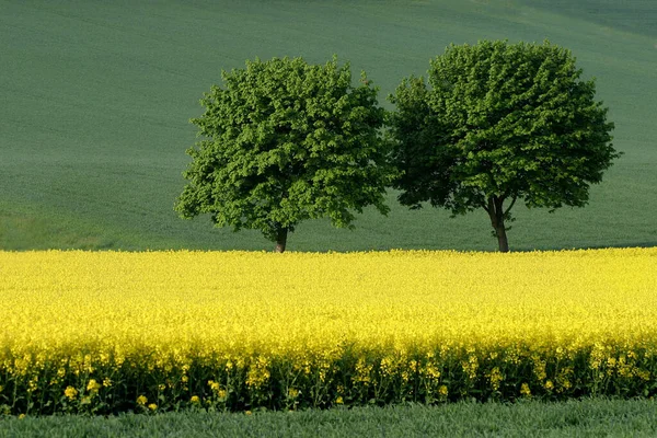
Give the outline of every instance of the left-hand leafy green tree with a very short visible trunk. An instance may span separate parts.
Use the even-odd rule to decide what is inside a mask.
[[[187,150],[181,217],[210,214],[217,227],[261,230],[284,252],[304,219],[353,228],[351,210],[388,212],[395,172],[379,134],[378,89],[365,72],[355,87],[336,57],[323,66],[274,58],[221,77],[224,87],[212,87],[200,101],[205,114],[192,119],[203,139]]]

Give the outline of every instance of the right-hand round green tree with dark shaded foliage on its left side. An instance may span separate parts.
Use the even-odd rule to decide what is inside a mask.
[[[451,45],[423,78],[390,96],[393,186],[411,208],[428,201],[452,217],[483,208],[499,251],[517,200],[583,207],[589,185],[620,157],[595,81],[569,50],[549,42]]]

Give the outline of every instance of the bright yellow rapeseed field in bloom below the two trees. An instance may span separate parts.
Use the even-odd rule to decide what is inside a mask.
[[[0,252],[0,316],[12,413],[657,387],[657,249]]]

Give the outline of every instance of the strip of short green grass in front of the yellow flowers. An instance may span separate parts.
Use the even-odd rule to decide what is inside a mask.
[[[454,403],[353,410],[0,419],[0,437],[653,437],[657,402]]]

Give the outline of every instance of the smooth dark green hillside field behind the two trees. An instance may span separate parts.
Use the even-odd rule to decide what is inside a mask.
[[[584,209],[516,207],[511,249],[657,244],[657,34],[648,0],[103,2],[0,0],[0,247],[269,249],[258,232],[183,221],[172,207],[195,141],[188,118],[221,69],[256,56],[337,54],[381,101],[450,43],[570,48],[625,155]],[[612,7],[613,3],[613,7]],[[610,9],[611,8],[611,9]],[[387,106],[390,107],[388,103]],[[302,224],[297,251],[494,250],[485,214],[367,211],[356,231]]]

